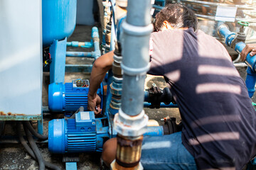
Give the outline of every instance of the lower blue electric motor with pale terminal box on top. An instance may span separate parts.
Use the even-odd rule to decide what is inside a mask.
[[[48,149],[52,153],[102,151],[108,139],[106,118],[95,118],[93,111],[79,112],[75,119],[54,119],[48,125]]]

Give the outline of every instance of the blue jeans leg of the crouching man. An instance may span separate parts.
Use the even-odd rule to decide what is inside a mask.
[[[195,159],[182,144],[181,132],[158,137],[145,136],[141,163],[144,169],[196,169]]]

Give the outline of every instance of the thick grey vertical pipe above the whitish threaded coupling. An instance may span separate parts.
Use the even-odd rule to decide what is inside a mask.
[[[149,70],[151,1],[128,1],[127,9],[127,21],[122,24],[122,111],[128,115],[138,115],[143,109],[144,81]]]

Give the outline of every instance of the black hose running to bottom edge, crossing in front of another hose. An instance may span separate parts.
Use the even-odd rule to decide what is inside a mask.
[[[32,134],[28,130],[25,122],[23,122],[23,128],[24,128],[24,130],[26,132],[26,137],[28,138],[28,142],[31,145],[31,148],[33,149],[34,154],[36,155],[36,159],[38,160],[39,170],[45,170],[46,169],[46,165],[44,163],[43,156],[42,156],[40,150],[38,149],[38,147],[36,145],[36,142],[33,140]]]

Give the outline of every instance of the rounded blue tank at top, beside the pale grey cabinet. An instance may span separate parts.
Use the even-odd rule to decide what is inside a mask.
[[[43,47],[63,40],[75,30],[77,0],[43,0]]]

